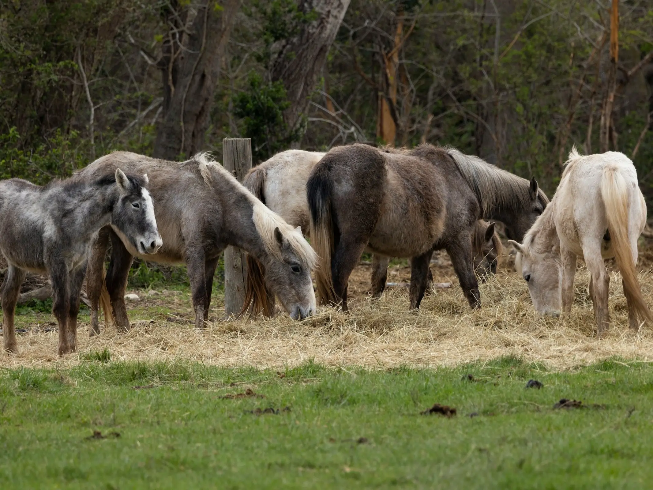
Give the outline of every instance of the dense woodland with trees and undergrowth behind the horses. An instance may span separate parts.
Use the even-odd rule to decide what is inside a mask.
[[[0,0],[0,178],[426,141],[551,193],[576,144],[653,202],[652,61],[648,0]]]

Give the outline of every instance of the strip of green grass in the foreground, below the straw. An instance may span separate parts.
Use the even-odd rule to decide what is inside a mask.
[[[281,378],[118,363],[108,352],[87,359],[0,373],[1,488],[643,488],[653,479],[645,363],[563,373],[512,357],[438,370],[307,363]],[[531,378],[544,387],[526,389]],[[221,398],[247,388],[265,398]],[[561,398],[587,407],[554,410]],[[420,414],[436,402],[457,416]],[[279,413],[257,414],[265,408]]]

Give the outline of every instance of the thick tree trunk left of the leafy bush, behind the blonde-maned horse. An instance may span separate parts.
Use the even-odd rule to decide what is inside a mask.
[[[170,31],[161,59],[163,121],[153,152],[167,160],[187,158],[202,149],[221,58],[240,8],[240,0],[180,4],[184,2],[168,4]]]

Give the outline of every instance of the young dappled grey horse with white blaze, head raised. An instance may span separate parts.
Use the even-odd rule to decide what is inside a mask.
[[[6,351],[18,351],[14,310],[28,270],[45,272],[52,281],[59,355],[76,351],[80,291],[100,229],[112,227],[142,255],[161,247],[147,184],[147,174],[119,168],[44,187],[18,178],[0,182],[0,252],[8,263],[0,289]]]

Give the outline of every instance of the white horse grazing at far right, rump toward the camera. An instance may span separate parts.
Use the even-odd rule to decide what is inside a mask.
[[[651,319],[637,280],[637,238],[646,224],[646,204],[637,172],[626,155],[607,152],[582,156],[574,147],[549,206],[517,248],[518,270],[528,282],[535,310],[571,311],[577,257],[590,271],[590,296],[601,336],[610,324],[610,276],[604,259],[614,257],[628,302],[628,322]]]

